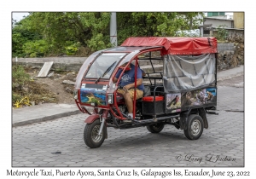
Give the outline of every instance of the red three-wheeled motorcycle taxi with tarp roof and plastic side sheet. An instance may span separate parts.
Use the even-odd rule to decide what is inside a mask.
[[[207,113],[214,113],[210,110],[217,106],[217,53],[216,38],[150,37],[127,38],[119,47],[90,55],[79,70],[73,93],[79,110],[90,114],[84,121],[85,144],[101,147],[108,127],[146,126],[149,132],[159,133],[166,124],[183,130],[189,140],[199,139],[203,128],[208,128]],[[124,96],[117,92],[131,63],[135,90],[137,70],[146,74],[143,97],[137,99],[135,93],[133,98],[132,118]]]

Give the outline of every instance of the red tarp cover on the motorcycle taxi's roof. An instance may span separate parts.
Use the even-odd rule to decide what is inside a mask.
[[[217,53],[216,38],[127,38],[121,46],[163,46],[162,55],[193,55]]]

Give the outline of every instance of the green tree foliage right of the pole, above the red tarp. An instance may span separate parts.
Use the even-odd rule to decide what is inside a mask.
[[[180,30],[195,29],[203,13],[118,13],[119,44],[129,37],[173,37]],[[191,20],[192,19],[192,20]],[[192,21],[192,26],[190,22]]]

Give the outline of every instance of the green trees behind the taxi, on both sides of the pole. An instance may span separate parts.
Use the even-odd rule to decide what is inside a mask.
[[[117,13],[118,44],[129,37],[176,36],[195,29],[201,22],[196,12]],[[15,23],[13,55],[75,55],[79,48],[90,51],[111,47],[109,12],[35,12]]]

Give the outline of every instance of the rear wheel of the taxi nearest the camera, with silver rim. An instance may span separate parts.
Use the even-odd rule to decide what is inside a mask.
[[[188,128],[184,130],[184,135],[189,140],[197,140],[203,132],[204,122],[199,115],[191,114],[188,118]]]

